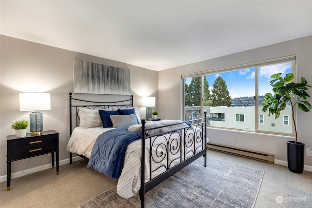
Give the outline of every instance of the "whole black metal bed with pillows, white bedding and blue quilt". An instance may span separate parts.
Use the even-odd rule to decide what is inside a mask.
[[[88,160],[88,167],[118,180],[120,196],[129,198],[139,192],[141,207],[147,191],[183,167],[202,156],[206,166],[206,113],[187,122],[146,121],[133,106],[133,96],[96,102],[73,98],[72,93],[69,112],[70,164],[73,153]],[[109,156],[103,152],[110,152]]]

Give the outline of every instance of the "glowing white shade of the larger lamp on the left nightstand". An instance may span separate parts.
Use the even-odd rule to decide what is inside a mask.
[[[50,110],[49,93],[20,93],[20,111]]]

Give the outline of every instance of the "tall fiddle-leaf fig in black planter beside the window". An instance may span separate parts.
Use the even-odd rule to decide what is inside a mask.
[[[280,111],[284,110],[287,105],[292,107],[292,123],[295,130],[295,141],[287,142],[287,160],[288,168],[294,173],[302,173],[304,167],[304,146],[302,142],[297,142],[297,128],[294,120],[294,108],[297,105],[299,110],[309,112],[312,108],[307,101],[310,98],[306,90],[308,85],[305,78],[301,78],[300,83],[293,83],[293,73],[286,74],[284,78],[281,73],[273,74],[270,84],[273,87],[274,94],[266,93],[264,96],[264,103],[262,103],[262,110],[266,112],[269,110],[269,116],[275,114],[275,119],[280,115]],[[292,96],[294,100],[292,100]]]

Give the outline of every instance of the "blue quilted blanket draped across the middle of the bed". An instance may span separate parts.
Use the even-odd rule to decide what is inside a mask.
[[[128,127],[115,128],[99,135],[93,146],[88,167],[118,179],[127,146],[141,138],[141,131],[129,132]]]

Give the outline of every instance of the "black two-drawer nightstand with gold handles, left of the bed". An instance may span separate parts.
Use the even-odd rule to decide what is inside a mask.
[[[57,175],[59,175],[59,132],[55,130],[42,131],[41,135],[26,134],[17,138],[16,135],[6,137],[7,143],[7,190],[11,188],[11,162],[35,157],[39,155],[52,155],[52,168],[54,168],[54,152],[56,153]]]

